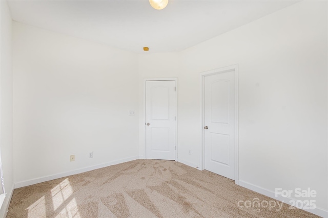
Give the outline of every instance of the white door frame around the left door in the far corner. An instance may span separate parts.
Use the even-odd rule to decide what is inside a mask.
[[[178,159],[178,78],[144,78],[144,113],[142,119],[142,135],[144,136],[144,143],[143,143],[143,156],[146,159],[146,81],[165,81],[165,80],[174,80],[175,81],[175,161]]]

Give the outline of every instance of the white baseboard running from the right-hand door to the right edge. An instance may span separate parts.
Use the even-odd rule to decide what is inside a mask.
[[[285,204],[288,204],[288,205],[291,205],[289,203],[291,200],[294,200],[294,201],[297,200],[297,199],[293,199],[293,198],[282,197],[281,195],[276,197],[274,191],[262,188],[262,187],[257,186],[257,185],[253,185],[249,182],[245,182],[245,181],[242,181],[242,180],[239,180],[239,185],[244,187],[244,188],[250,189],[252,191],[258,192],[258,193],[260,193],[264,196],[268,196],[268,197],[273,198],[275,200],[281,201],[281,202],[283,202]],[[305,209],[305,211],[308,211],[309,213],[313,213],[313,214],[316,214],[316,215],[324,217],[324,218],[328,218],[328,211],[326,211],[322,208],[316,207],[315,209]]]

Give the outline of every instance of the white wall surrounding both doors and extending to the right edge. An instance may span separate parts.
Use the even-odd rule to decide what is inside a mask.
[[[326,18],[327,2],[301,2],[180,53],[139,55],[139,93],[142,77],[178,77],[178,160],[199,165],[200,72],[238,64],[239,184],[310,187],[327,211]]]

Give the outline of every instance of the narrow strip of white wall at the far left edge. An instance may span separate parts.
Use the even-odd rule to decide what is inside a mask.
[[[4,217],[14,188],[13,181],[13,123],[11,14],[6,1],[0,1],[0,150],[6,198],[0,210]]]

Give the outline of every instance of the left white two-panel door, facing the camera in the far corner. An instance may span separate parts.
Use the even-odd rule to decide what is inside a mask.
[[[146,81],[146,158],[175,160],[175,81]]]

